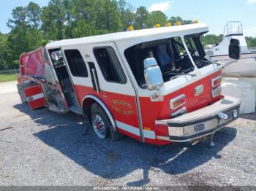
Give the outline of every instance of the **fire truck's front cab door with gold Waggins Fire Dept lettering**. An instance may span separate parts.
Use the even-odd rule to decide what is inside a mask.
[[[115,44],[94,44],[91,50],[93,58],[90,72],[93,74],[93,82],[96,85],[98,83],[98,94],[112,112],[118,130],[135,139],[142,139],[135,90],[118,56]]]

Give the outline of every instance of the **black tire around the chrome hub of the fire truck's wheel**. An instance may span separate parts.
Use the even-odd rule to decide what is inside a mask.
[[[95,116],[99,116],[100,118],[102,118],[102,121],[105,123],[105,128],[106,128],[106,136],[105,137],[100,137],[98,135],[98,133],[96,132],[96,130],[94,129],[94,132],[96,133],[96,135],[99,138],[108,139],[110,137],[110,139],[112,141],[118,141],[118,140],[120,140],[124,137],[117,130],[115,131],[113,129],[113,126],[111,125],[111,122],[110,122],[110,119],[108,118],[108,115],[106,114],[104,109],[102,109],[102,107],[99,106],[99,104],[97,104],[97,103],[94,103],[94,104],[91,105],[90,120],[91,120],[91,125],[92,125],[93,128],[94,128],[94,117]]]

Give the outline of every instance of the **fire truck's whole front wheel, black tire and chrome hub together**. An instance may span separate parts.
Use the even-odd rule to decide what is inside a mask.
[[[108,115],[97,103],[91,105],[91,125],[100,139],[107,139],[110,136],[112,141],[117,141],[124,137],[113,129]]]

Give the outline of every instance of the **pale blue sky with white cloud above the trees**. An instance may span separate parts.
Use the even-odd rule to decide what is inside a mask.
[[[12,9],[26,6],[31,0],[1,1],[0,32],[8,33],[7,20]],[[32,0],[40,6],[48,0]],[[256,37],[256,0],[127,0],[135,8],[145,6],[149,11],[161,10],[168,17],[180,16],[186,20],[199,20],[209,26],[209,34],[222,34],[225,23],[238,20],[243,23],[244,34]]]

